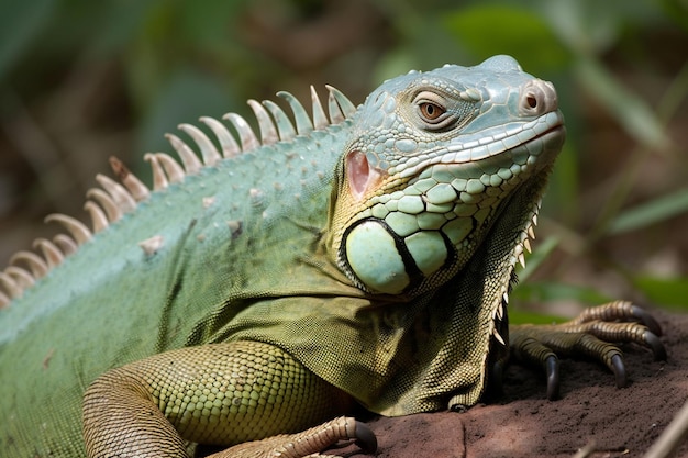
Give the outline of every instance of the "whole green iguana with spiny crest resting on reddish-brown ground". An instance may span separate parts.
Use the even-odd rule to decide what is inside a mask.
[[[312,118],[278,94],[293,122],[249,101],[259,138],[236,114],[236,134],[181,124],[200,156],[169,135],[181,160],[146,156],[153,190],[112,159],[119,182],[88,193],[92,231],[51,215],[69,235],[14,256],[0,273],[3,457],[374,450],[344,416],[354,405],[470,406],[509,340],[544,366],[551,398],[555,351],[601,359],[620,386],[604,342],[663,356],[656,323],[625,302],[509,338],[514,266],[565,135],[550,82],[497,56],[411,71],[358,108],[329,87],[329,116],[312,93]]]

